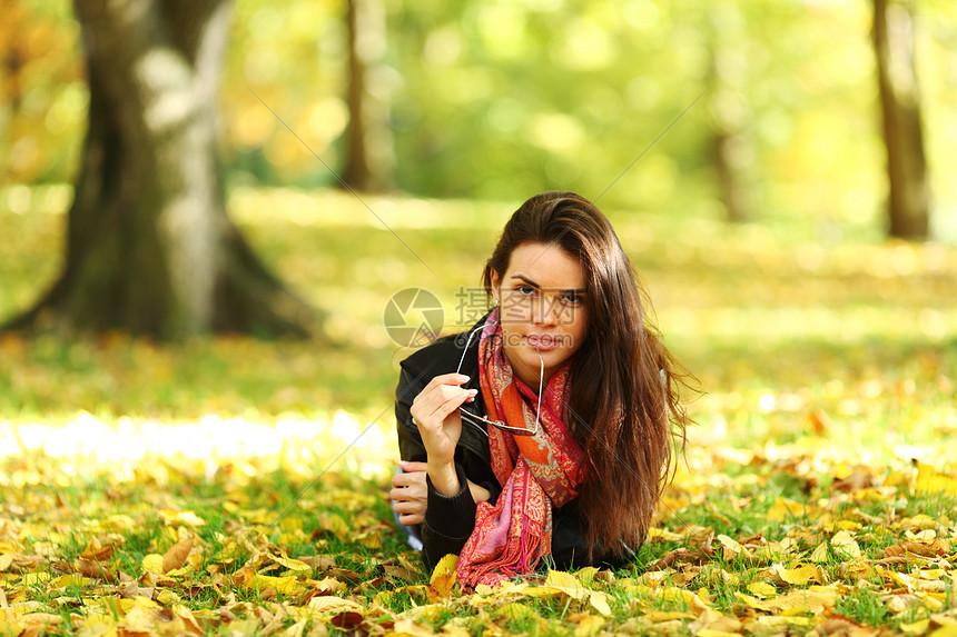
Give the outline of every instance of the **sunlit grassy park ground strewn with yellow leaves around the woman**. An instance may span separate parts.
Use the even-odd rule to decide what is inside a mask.
[[[58,268],[66,200],[49,192],[59,190],[38,190],[34,208],[23,215],[3,209],[0,193],[0,236],[17,238],[0,242],[0,317],[26,308]],[[411,250],[348,195],[237,191],[230,200],[259,253],[324,310],[335,346],[241,337],[157,345],[124,335],[75,341],[0,335],[0,565],[4,554],[40,560],[26,570],[0,568],[11,605],[37,603],[33,610],[61,615],[62,626],[76,629],[105,608],[101,600],[112,598],[116,585],[23,587],[23,575],[60,577],[95,536],[117,536],[109,568],[141,580],[147,555],[195,535],[199,571],[157,590],[176,593],[193,611],[214,613],[231,604],[231,593],[240,603],[233,606],[237,620],[255,619],[257,630],[265,623],[253,606],[273,613],[272,605],[302,601],[234,581],[257,553],[330,556],[335,567],[310,577],[345,583],[338,595],[361,604],[367,631],[388,631],[403,618],[435,630],[490,635],[500,635],[499,628],[584,630],[583,617],[594,609],[568,597],[517,596],[484,606],[463,597],[431,607],[425,589],[415,588],[427,584],[427,574],[391,526],[385,487],[397,458],[391,402],[406,350],[389,341],[382,312],[392,293],[422,286],[442,299],[447,330],[461,329],[456,290],[477,285],[514,203],[367,201]],[[653,539],[615,574],[615,583],[589,580],[586,586],[609,595],[612,616],[603,629],[664,631],[658,623],[664,616],[653,611],[697,615],[687,598],[664,593],[673,586],[704,589],[711,608],[740,624],[713,629],[767,633],[756,617],[775,614],[749,608],[741,595],[753,598],[749,587],[764,590],[758,585],[768,581],[777,596],[803,587],[773,580],[773,560],[726,556],[721,535],[752,538],[749,550],[756,555],[761,541],[790,543],[783,568],[808,564],[825,543],[818,566],[826,583],[842,590],[830,611],[859,624],[899,630],[931,611],[953,615],[953,580],[945,577],[939,599],[896,610],[885,598],[901,585],[886,574],[855,575],[851,567],[860,565],[830,543],[836,525],[856,522],[861,564],[874,566],[888,547],[912,541],[908,533],[923,528],[902,520],[926,515],[937,537],[954,536],[957,499],[945,479],[953,479],[957,464],[957,249],[850,239],[816,243],[808,232],[773,226],[609,213],[648,283],[667,342],[702,389],[691,404],[698,425],[687,459],[657,526],[672,533],[710,528],[713,537],[710,553],[677,560],[660,578],[655,563],[680,548],[697,550],[700,541]],[[335,420],[339,410],[349,415],[346,420]],[[318,427],[296,430],[302,424]],[[362,439],[368,446],[333,465],[369,424]],[[109,454],[110,435],[145,435],[151,427],[186,440],[186,450],[209,451],[197,458],[159,457],[148,449],[137,455],[117,441]],[[70,456],[65,440],[81,452]],[[245,442],[247,454],[257,447],[269,452],[234,457],[229,442]],[[858,465],[868,468],[872,484],[837,488]],[[918,470],[945,480],[943,490],[924,490]],[[778,517],[779,501],[797,502],[800,511]],[[164,510],[191,511],[205,524],[170,521]],[[233,544],[237,538],[251,544]],[[945,557],[953,561],[953,550]],[[413,565],[411,581],[397,575],[405,568],[399,558]],[[263,566],[263,575],[285,570],[264,564],[270,566]],[[910,559],[884,568],[902,576],[925,566]],[[502,615],[509,601],[531,614]],[[318,621],[310,619],[306,628]],[[691,619],[673,621],[669,630],[693,631]],[[280,624],[285,629],[294,618]],[[48,629],[68,631],[62,626]],[[209,623],[204,629],[217,634],[227,626]],[[4,630],[12,628],[0,618],[0,635]],[[334,623],[327,630],[349,633]]]

